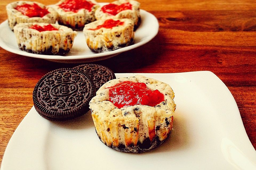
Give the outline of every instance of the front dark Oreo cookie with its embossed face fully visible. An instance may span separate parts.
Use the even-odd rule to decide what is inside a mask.
[[[33,91],[36,111],[49,120],[69,120],[89,111],[95,95],[90,76],[77,69],[63,68],[43,76]]]

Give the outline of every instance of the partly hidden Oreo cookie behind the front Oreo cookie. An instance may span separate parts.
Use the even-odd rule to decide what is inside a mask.
[[[115,73],[108,67],[98,64],[83,64],[74,67],[88,74],[95,83],[96,91],[109,80],[115,79]]]

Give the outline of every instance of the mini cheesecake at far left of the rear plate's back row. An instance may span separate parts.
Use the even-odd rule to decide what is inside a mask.
[[[51,7],[38,2],[17,1],[6,6],[8,23],[13,27],[19,23],[52,23],[57,20],[58,14]]]

